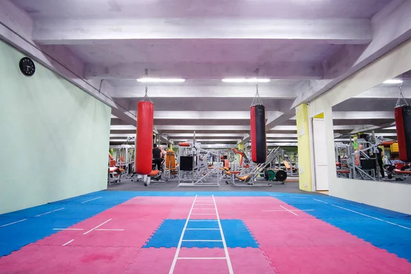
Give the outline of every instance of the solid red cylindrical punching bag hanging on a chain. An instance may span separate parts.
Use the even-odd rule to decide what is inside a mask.
[[[151,173],[153,163],[154,104],[140,101],[137,105],[137,132],[135,171],[140,175]]]

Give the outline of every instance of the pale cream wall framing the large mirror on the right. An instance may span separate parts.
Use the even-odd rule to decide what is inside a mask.
[[[386,53],[375,62],[351,75],[334,88],[314,99],[308,106],[310,117],[324,112],[327,143],[334,144],[332,107],[360,95],[411,70],[411,40]],[[393,113],[394,113],[393,105]],[[379,208],[411,214],[411,185],[391,182],[371,182],[360,179],[343,179],[336,175],[334,149],[327,150],[329,195],[366,203]]]

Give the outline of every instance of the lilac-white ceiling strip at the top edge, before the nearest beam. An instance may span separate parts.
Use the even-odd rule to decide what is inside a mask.
[[[387,0],[14,0],[34,18],[371,18]]]

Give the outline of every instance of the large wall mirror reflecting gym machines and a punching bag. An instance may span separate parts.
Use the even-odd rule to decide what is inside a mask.
[[[411,71],[334,105],[337,177],[411,184],[408,104],[411,104]]]

